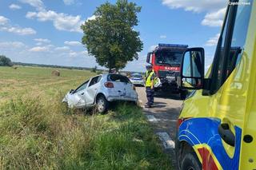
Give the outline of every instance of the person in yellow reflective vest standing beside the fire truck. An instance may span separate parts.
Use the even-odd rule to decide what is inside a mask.
[[[154,80],[155,74],[152,69],[152,65],[146,65],[146,98],[147,103],[145,105],[146,108],[151,108],[154,105]]]

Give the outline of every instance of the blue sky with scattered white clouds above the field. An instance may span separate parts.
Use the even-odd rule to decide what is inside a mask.
[[[94,67],[80,43],[80,26],[93,19],[104,0],[0,0],[0,54],[12,61]],[[114,0],[109,2],[114,3]],[[158,43],[202,46],[210,65],[225,14],[223,0],[133,0],[142,6],[139,23],[144,48],[125,70],[142,71],[146,53]]]

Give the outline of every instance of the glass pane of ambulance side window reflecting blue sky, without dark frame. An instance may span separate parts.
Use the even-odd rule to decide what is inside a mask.
[[[242,1],[244,5],[239,5],[234,22],[234,31],[232,35],[230,53],[227,58],[226,78],[234,70],[241,60],[242,49],[246,43],[246,35],[249,26],[250,12],[253,0]]]

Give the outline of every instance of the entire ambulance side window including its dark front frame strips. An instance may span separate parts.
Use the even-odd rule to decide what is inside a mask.
[[[238,1],[234,0],[232,2]],[[214,66],[211,73],[213,82],[211,93],[218,91],[241,60],[241,52],[246,42],[252,3],[253,0],[246,0],[238,3],[240,5],[230,5],[228,8],[225,26],[220,35],[214,56]]]

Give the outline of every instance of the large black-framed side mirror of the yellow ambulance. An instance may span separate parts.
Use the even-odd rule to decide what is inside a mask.
[[[182,57],[178,86],[181,89],[202,89],[205,69],[205,52],[203,48],[186,49]]]

